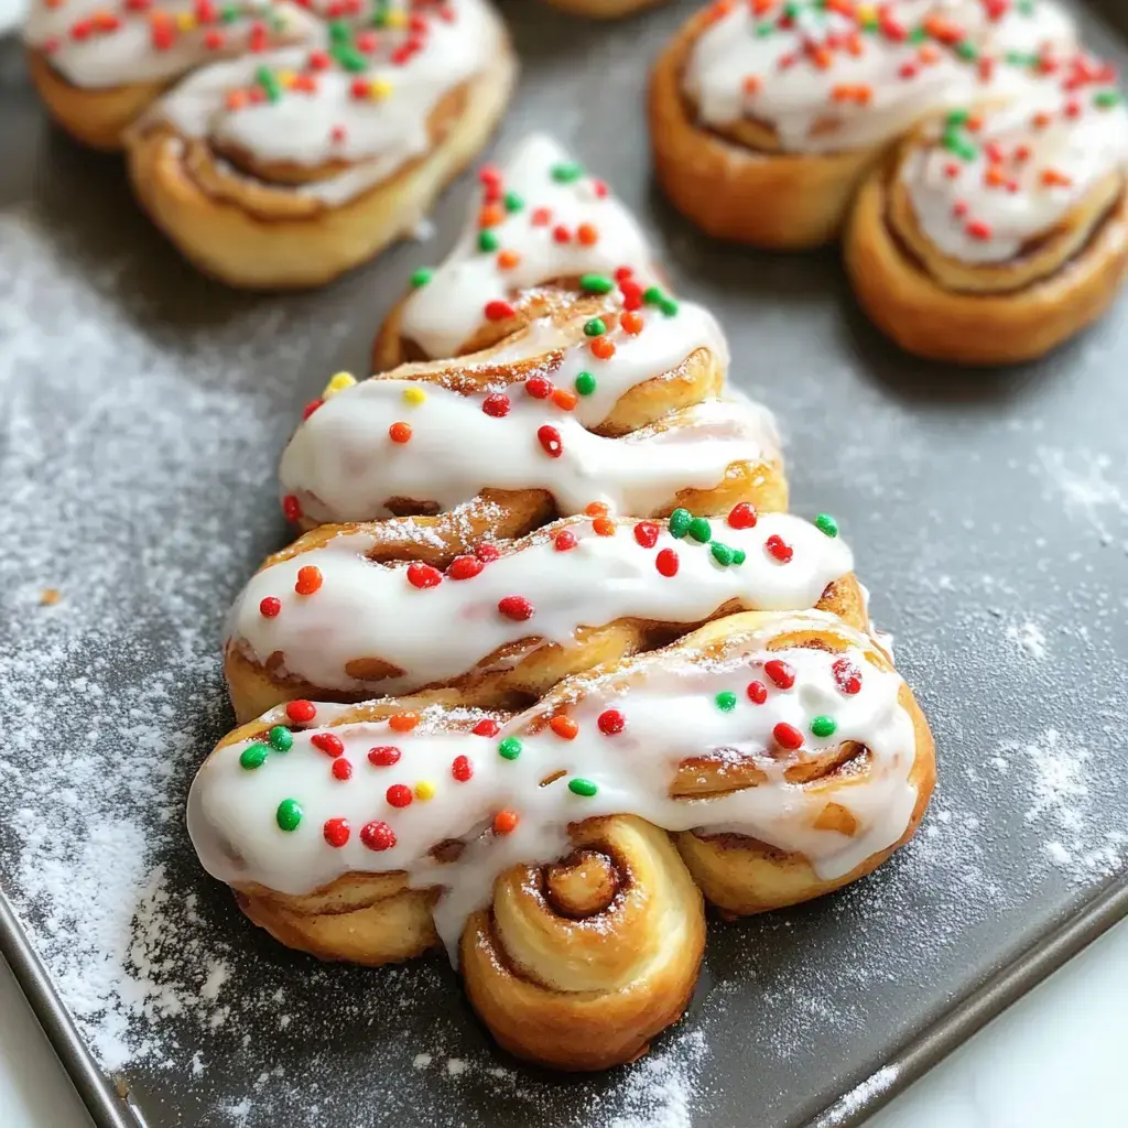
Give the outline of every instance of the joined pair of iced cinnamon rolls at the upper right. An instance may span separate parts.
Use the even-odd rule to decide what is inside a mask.
[[[717,0],[650,118],[680,211],[764,247],[845,231],[863,307],[918,355],[1041,355],[1123,276],[1128,113],[1055,0]]]

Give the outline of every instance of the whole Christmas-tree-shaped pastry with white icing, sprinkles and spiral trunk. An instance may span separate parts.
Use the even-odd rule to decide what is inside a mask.
[[[601,1069],[677,1021],[725,915],[873,870],[932,737],[767,411],[553,141],[482,170],[451,256],[282,457],[307,529],[227,620],[240,728],[205,869],[283,944],[446,946],[513,1054]]]

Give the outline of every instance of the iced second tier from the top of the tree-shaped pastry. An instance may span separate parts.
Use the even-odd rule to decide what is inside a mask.
[[[490,349],[310,405],[282,456],[283,510],[303,528],[395,519],[439,564],[591,503],[638,518],[786,509],[770,413],[721,398],[713,317],[664,297],[624,310],[610,279],[583,284],[599,293]]]

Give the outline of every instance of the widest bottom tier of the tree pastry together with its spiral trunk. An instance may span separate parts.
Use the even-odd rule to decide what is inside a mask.
[[[209,757],[188,830],[283,943],[380,963],[438,937],[506,1048],[592,1069],[644,1051],[696,977],[700,898],[663,831],[720,904],[791,904],[888,857],[933,776],[927,725],[866,635],[744,613],[515,715],[450,690],[290,702]],[[739,836],[757,864],[703,861],[688,831]]]

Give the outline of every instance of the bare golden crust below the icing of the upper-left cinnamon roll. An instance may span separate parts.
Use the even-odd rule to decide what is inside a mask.
[[[320,285],[371,258],[426,214],[493,132],[515,69],[506,46],[459,89],[460,113],[439,113],[442,129],[424,157],[338,206],[294,192],[292,170],[246,159],[240,171],[228,170],[205,141],[185,141],[164,123],[127,135],[130,176],[153,222],[205,273],[236,287]],[[281,179],[258,179],[256,173]]]

